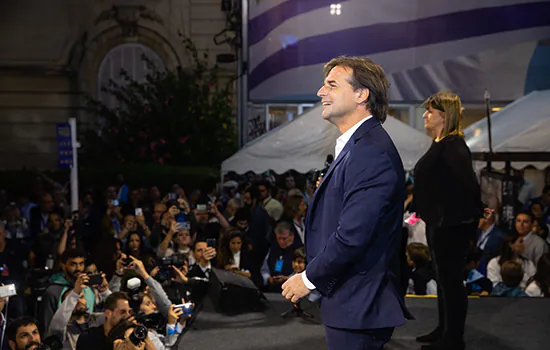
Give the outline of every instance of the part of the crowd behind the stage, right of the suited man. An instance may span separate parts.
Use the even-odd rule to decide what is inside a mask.
[[[425,223],[413,215],[412,186],[410,182],[405,203],[406,256],[411,269],[407,291],[437,294]],[[550,297],[550,186],[544,187],[541,196],[525,199],[512,230],[498,225],[497,219],[495,209],[485,206],[476,236],[470,239],[464,271],[468,294]]]

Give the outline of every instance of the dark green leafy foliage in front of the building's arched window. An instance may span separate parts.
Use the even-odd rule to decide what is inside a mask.
[[[145,82],[122,71],[122,83],[104,87],[118,108],[89,98],[98,123],[82,135],[85,165],[219,166],[236,151],[231,82],[220,82],[218,66],[210,66],[208,55],[199,55],[190,39],[183,38],[183,44],[189,68],[161,71],[142,57],[150,72]]]

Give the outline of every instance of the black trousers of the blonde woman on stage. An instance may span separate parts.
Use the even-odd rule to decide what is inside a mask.
[[[426,227],[430,254],[437,281],[439,328],[443,339],[463,340],[468,297],[464,287],[464,269],[468,243],[475,237],[475,225],[452,228]]]

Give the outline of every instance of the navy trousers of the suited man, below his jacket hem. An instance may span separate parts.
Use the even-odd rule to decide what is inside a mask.
[[[339,329],[325,326],[327,350],[380,350],[393,334],[392,328]]]

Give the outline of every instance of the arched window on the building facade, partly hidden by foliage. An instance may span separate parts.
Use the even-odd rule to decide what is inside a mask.
[[[128,72],[128,75],[136,81],[145,81],[145,77],[150,72],[146,62],[142,59],[143,55],[152,61],[158,69],[165,69],[164,62],[160,56],[151,48],[142,44],[121,44],[111,49],[105,55],[99,66],[97,76],[98,96],[100,101],[105,103],[108,107],[118,107],[116,98],[107,92],[101,91],[101,89],[109,84],[109,79],[121,83],[121,69]]]

